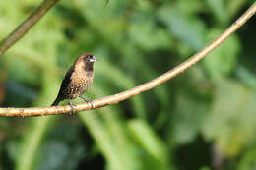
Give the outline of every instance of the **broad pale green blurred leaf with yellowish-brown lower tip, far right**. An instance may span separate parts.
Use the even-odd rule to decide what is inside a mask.
[[[236,156],[255,140],[255,102],[256,92],[251,88],[235,81],[219,80],[213,107],[202,131],[225,156]]]

